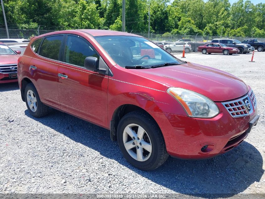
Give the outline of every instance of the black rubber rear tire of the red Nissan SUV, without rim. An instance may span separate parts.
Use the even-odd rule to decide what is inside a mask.
[[[33,94],[34,96],[36,97],[36,111],[32,111],[30,108],[29,108],[29,102],[28,102],[28,99],[27,99],[27,93],[28,91],[31,90],[33,91]],[[24,96],[25,96],[25,102],[26,102],[26,105],[27,105],[27,108],[29,110],[29,113],[36,117],[36,118],[41,118],[45,115],[48,114],[49,112],[49,107],[45,104],[43,104],[41,101],[40,101],[40,96],[35,88],[35,86],[32,84],[32,83],[29,83],[27,84],[26,88],[25,88],[25,93],[24,93]]]

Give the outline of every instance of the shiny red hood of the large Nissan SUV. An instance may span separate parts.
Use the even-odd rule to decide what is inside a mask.
[[[249,90],[248,86],[234,75],[189,62],[154,69],[131,70],[168,87],[180,87],[198,92],[215,102],[242,97]]]

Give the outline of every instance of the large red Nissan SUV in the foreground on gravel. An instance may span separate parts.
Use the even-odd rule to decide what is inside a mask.
[[[42,117],[52,107],[109,129],[127,161],[143,170],[156,169],[168,155],[203,159],[225,153],[259,118],[255,95],[242,80],[181,61],[125,32],[40,35],[18,66],[30,114]]]

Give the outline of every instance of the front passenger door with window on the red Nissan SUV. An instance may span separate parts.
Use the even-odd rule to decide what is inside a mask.
[[[58,68],[61,109],[79,118],[108,126],[108,76],[84,68],[86,57],[97,57],[92,45],[80,36],[67,35]],[[100,62],[104,62],[100,58]]]

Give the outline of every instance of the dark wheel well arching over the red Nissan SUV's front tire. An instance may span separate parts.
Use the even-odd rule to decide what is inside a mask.
[[[124,104],[124,105],[119,106],[114,111],[113,116],[112,116],[112,120],[110,122],[110,138],[112,141],[117,141],[117,129],[118,129],[119,121],[122,119],[122,117],[124,115],[126,115],[127,113],[130,113],[130,112],[133,112],[133,111],[144,112],[153,119],[153,117],[146,110],[144,110],[138,106],[135,106],[133,104]],[[154,119],[154,121],[155,121],[155,119]],[[157,124],[157,126],[158,126],[158,124]]]

